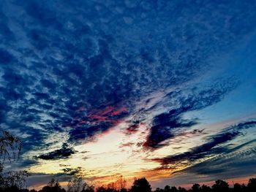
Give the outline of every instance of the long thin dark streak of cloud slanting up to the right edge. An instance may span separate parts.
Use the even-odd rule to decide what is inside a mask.
[[[234,148],[230,148],[228,147],[228,145],[222,146],[222,144],[227,144],[227,142],[235,139],[239,135],[241,136],[242,131],[244,129],[254,128],[255,126],[256,126],[255,120],[238,123],[234,126],[225,128],[224,131],[214,136],[207,137],[206,142],[203,145],[194,147],[185,153],[181,153],[177,155],[169,155],[165,158],[155,158],[153,159],[153,161],[157,161],[161,163],[163,167],[168,167],[168,166],[172,167],[177,165],[180,166],[180,165],[184,165],[184,162],[187,162],[185,163],[185,166],[193,167],[196,163],[198,163],[198,161],[199,162],[203,161],[202,164],[206,164],[206,162],[208,162],[208,161],[204,162],[206,158],[214,158],[216,155],[219,156],[219,158],[217,158],[217,161],[223,161],[223,159],[225,158],[225,155],[238,150],[239,147],[248,145],[250,142],[246,142],[244,145],[240,145]],[[254,142],[254,140],[252,142]],[[210,160],[210,161],[212,162],[213,160]],[[216,167],[211,169],[212,169],[212,172],[223,171],[223,170],[217,169]]]

